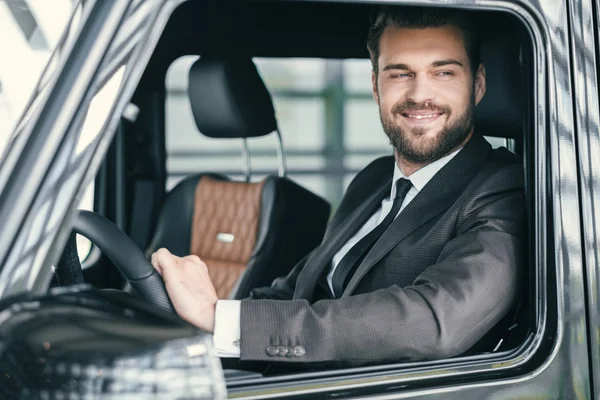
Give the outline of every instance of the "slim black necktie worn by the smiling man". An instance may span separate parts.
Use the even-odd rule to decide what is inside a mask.
[[[340,297],[344,292],[347,281],[354,273],[354,269],[360,264],[363,257],[368,253],[375,241],[385,232],[390,224],[396,218],[406,193],[410,190],[412,184],[408,179],[400,178],[396,181],[396,197],[392,204],[392,209],[379,225],[377,225],[369,234],[358,241],[342,258],[333,272],[331,280],[333,293],[335,297]]]

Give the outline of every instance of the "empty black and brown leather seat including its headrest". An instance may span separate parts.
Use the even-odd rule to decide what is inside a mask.
[[[277,131],[271,96],[250,59],[201,58],[189,96],[202,134],[251,138]],[[286,177],[239,182],[215,173],[189,176],[168,195],[149,252],[195,254],[219,298],[241,299],[285,275],[320,242],[330,205]]]

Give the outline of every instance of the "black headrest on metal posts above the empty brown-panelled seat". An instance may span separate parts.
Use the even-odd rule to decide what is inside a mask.
[[[188,95],[198,130],[213,138],[249,138],[277,129],[271,95],[247,58],[201,57]]]

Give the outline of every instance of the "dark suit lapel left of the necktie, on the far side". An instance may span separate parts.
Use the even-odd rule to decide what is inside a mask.
[[[295,299],[306,299],[312,296],[315,285],[323,269],[329,265],[333,256],[350,238],[358,231],[369,217],[371,217],[383,198],[391,190],[392,180],[385,179],[376,190],[361,203],[346,219],[340,222],[331,232],[326,233],[325,240],[321,244],[319,251],[310,257],[306,266],[298,275],[298,284],[294,292]]]

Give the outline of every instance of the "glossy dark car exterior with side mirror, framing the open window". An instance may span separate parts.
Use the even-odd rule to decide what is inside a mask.
[[[47,293],[118,119],[182,1],[88,0],[0,160],[0,395],[223,398],[210,337],[141,301],[87,286]],[[431,5],[430,1],[397,4]],[[528,168],[534,307],[517,349],[227,381],[233,398],[600,398],[597,0],[448,0],[504,11],[532,41]],[[92,134],[92,99],[118,90]],[[88,131],[89,133],[90,131]],[[111,397],[112,396],[112,397]],[[138,396],[138,397],[135,397]]]

